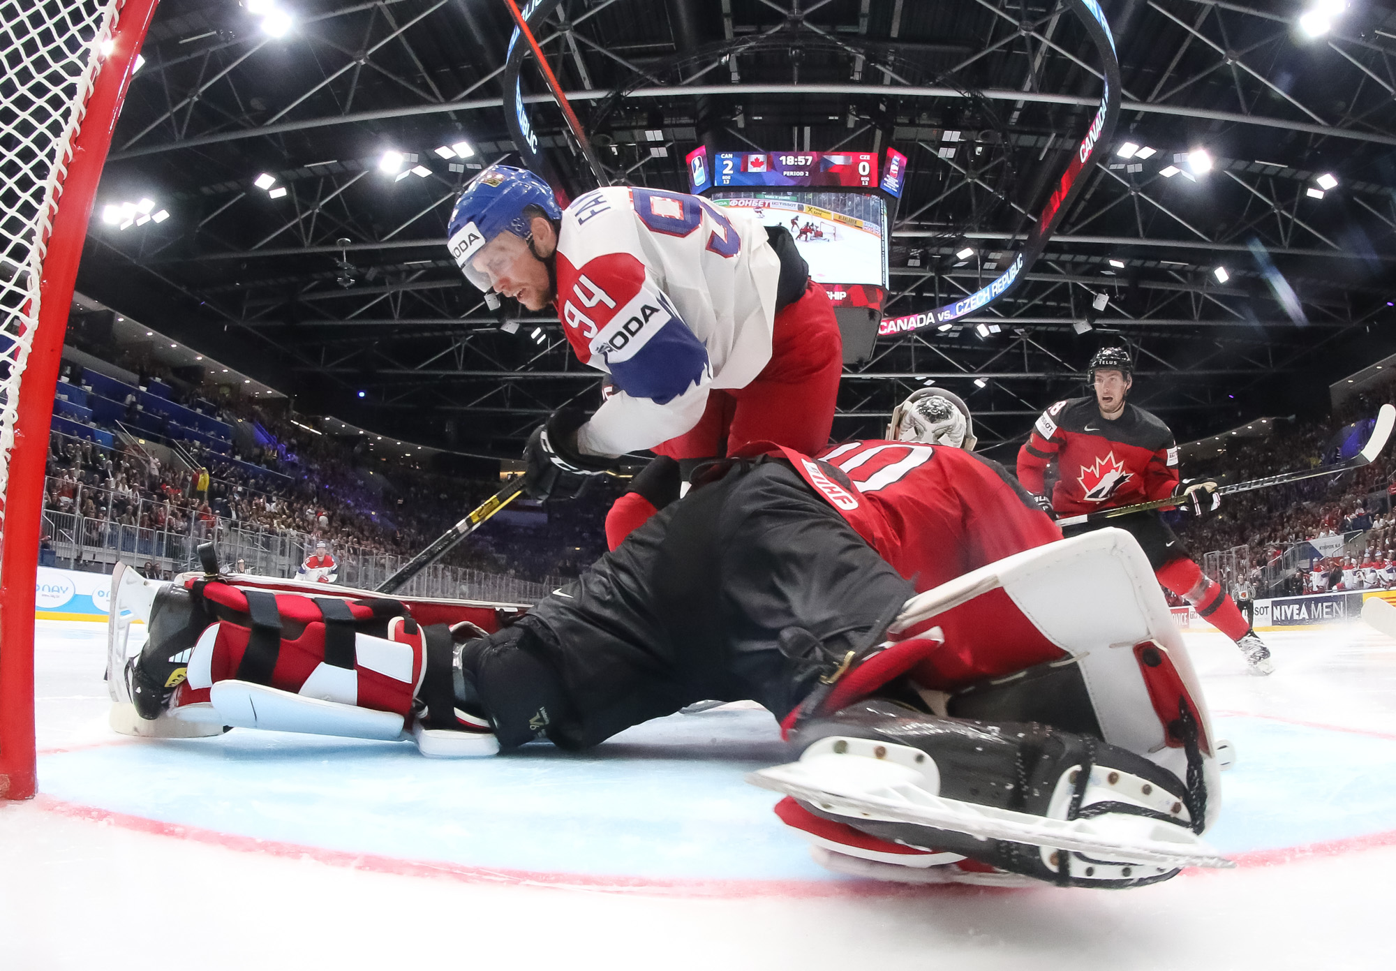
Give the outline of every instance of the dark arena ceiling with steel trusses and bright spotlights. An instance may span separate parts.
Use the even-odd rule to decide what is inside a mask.
[[[1315,3],[1104,0],[1124,82],[1104,165],[1009,296],[963,328],[882,338],[847,368],[835,435],[877,434],[934,379],[1008,459],[1040,409],[1081,392],[1090,354],[1127,339],[1135,400],[1182,439],[1305,410],[1396,350],[1396,15],[1358,0],[1315,38],[1298,24]],[[611,181],[684,191],[699,144],[906,153],[888,315],[993,279],[1100,98],[1079,22],[1036,0],[561,10],[539,39]],[[268,15],[286,17],[281,36]],[[547,412],[599,398],[554,318],[501,332],[443,244],[475,170],[434,149],[466,140],[472,165],[514,152],[510,32],[503,0],[163,0],[80,290],[304,413],[517,455]],[[532,64],[524,85],[543,91]],[[533,123],[564,186],[589,188],[556,106],[535,103]],[[1125,142],[1154,153],[1121,158]],[[1205,174],[1181,159],[1199,148]],[[381,172],[387,151],[419,174]],[[170,216],[102,220],[138,198]]]

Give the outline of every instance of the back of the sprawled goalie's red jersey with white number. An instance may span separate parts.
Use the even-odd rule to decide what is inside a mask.
[[[917,592],[1061,539],[1001,465],[919,442],[835,445],[817,459],[780,449]]]

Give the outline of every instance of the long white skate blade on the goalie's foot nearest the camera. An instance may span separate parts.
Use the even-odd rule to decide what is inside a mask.
[[[1047,819],[948,799],[923,788],[926,778],[924,770],[857,755],[815,755],[747,776],[752,785],[793,795],[840,816],[930,826],[980,840],[1026,843],[1168,869],[1235,866],[1174,823],[1146,816]]]

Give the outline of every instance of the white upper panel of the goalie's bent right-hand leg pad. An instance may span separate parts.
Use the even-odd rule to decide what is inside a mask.
[[[1203,735],[1215,735],[1182,636],[1139,543],[1125,530],[1100,529],[1025,550],[917,594],[892,631],[924,622],[997,587],[1047,640],[1076,658],[1104,741],[1187,778],[1187,755],[1167,744],[1135,645],[1153,640],[1167,654],[1198,712]],[[1210,755],[1203,756],[1203,773],[1210,825],[1220,811],[1220,776]]]

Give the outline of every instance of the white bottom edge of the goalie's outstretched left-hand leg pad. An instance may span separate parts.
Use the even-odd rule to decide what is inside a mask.
[[[219,681],[209,692],[209,700],[222,723],[235,728],[378,741],[402,738],[401,714],[293,695],[248,681]]]

